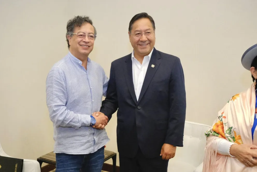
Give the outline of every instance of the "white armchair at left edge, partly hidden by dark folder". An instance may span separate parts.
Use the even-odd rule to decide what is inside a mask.
[[[0,156],[11,157],[4,152],[1,146],[1,143],[0,143]],[[22,172],[40,172],[39,162],[35,160],[24,159]]]

